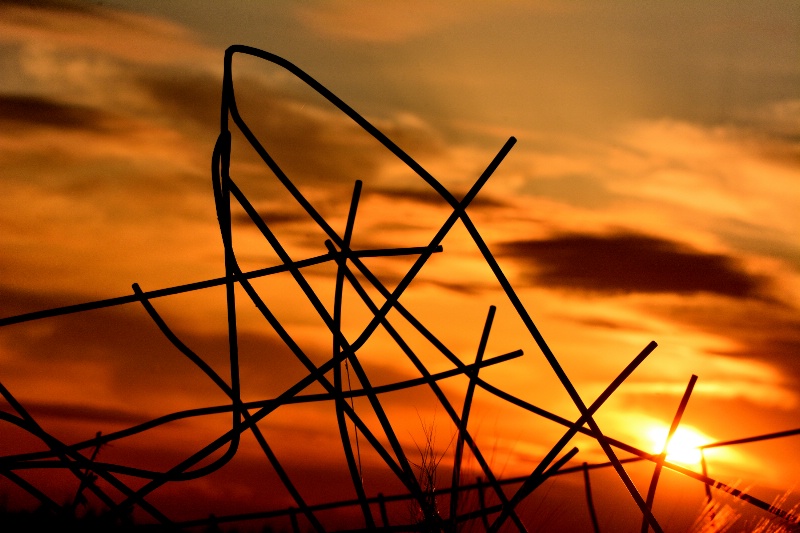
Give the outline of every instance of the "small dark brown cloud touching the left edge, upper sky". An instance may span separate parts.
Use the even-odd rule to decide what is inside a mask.
[[[28,95],[0,95],[0,124],[106,131],[105,113]]]

